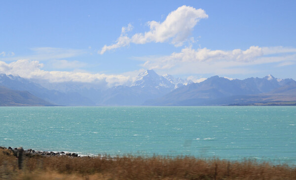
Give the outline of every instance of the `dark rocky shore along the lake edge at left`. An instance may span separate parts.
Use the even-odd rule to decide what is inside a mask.
[[[2,150],[5,150],[5,149],[11,150],[15,156],[17,156],[17,153],[21,152],[26,156],[35,156],[35,155],[61,156],[61,155],[67,155],[67,156],[72,156],[72,157],[80,157],[76,153],[71,153],[71,152],[65,153],[63,151],[61,151],[61,152],[53,152],[53,151],[40,151],[40,150],[32,150],[32,149],[24,150],[22,147],[14,148],[14,149],[12,149],[11,147],[8,147],[8,148],[0,147],[0,149],[2,149]]]

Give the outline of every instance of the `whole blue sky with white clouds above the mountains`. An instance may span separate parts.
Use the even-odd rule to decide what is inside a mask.
[[[4,0],[0,73],[131,85],[146,69],[199,82],[296,80],[295,0]]]

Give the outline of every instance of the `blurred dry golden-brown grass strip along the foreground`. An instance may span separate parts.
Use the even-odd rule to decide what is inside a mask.
[[[0,150],[2,180],[296,180],[296,167],[194,157],[24,156]]]

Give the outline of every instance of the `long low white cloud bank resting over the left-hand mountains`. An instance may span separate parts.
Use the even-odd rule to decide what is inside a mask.
[[[86,82],[107,84],[108,87],[132,84],[132,78],[124,75],[91,74],[87,72],[44,71],[42,63],[36,60],[17,60],[11,63],[0,61],[0,73],[36,78],[50,82]]]

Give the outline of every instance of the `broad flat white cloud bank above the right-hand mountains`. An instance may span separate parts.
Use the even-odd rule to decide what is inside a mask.
[[[142,64],[144,68],[170,74],[250,74],[256,72],[247,68],[250,65],[292,64],[296,61],[296,49],[251,46],[247,50],[223,51],[193,49],[190,46],[170,56],[141,57],[139,60],[145,60]]]

